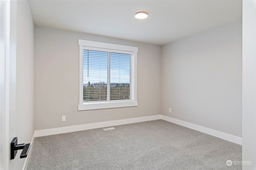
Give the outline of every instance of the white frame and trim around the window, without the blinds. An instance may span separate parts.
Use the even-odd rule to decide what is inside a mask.
[[[109,43],[101,43],[96,41],[78,40],[79,45],[79,104],[78,110],[92,110],[92,109],[107,109],[116,107],[132,107],[138,106],[137,101],[137,53],[138,47],[131,47],[126,45],[117,45]],[[84,58],[84,48],[86,49],[104,49],[105,51],[126,51],[134,56],[132,63],[134,65],[134,70],[132,70],[132,76],[134,78],[134,94],[131,100],[113,100],[104,102],[83,102],[83,58]],[[131,69],[131,68],[130,68]]]

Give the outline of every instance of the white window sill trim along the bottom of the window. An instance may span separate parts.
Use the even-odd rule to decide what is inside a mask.
[[[117,107],[132,107],[138,106],[138,102],[106,102],[106,103],[87,103],[79,104],[78,110],[94,110],[94,109],[108,109]]]

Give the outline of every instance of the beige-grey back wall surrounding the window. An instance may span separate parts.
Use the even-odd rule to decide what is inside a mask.
[[[138,47],[138,107],[78,111],[78,39]],[[36,130],[159,114],[160,46],[36,26]],[[66,121],[62,121],[66,115]]]

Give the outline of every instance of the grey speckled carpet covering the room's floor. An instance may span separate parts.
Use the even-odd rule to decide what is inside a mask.
[[[28,170],[241,170],[242,146],[164,120],[36,137]]]

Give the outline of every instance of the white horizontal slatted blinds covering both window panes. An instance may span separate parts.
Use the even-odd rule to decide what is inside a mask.
[[[130,54],[84,50],[83,101],[132,99],[131,58]]]

